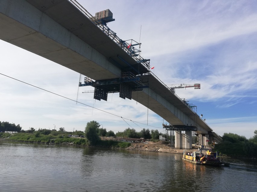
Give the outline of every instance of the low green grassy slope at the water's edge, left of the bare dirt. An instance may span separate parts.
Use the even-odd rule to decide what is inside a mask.
[[[34,142],[34,143],[52,143],[52,144],[61,144],[61,145],[82,145],[88,146],[89,142],[86,138],[73,138],[68,136],[61,135],[43,135],[43,134],[34,134],[34,133],[0,133],[0,138],[10,141],[18,142]],[[104,148],[127,148],[131,145],[128,142],[120,142],[113,140],[99,140],[95,144],[96,147]]]

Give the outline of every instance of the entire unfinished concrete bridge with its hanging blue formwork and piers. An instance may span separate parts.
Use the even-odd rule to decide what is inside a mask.
[[[0,27],[3,41],[87,76],[80,86],[95,87],[95,99],[119,92],[163,117],[175,130],[175,147],[192,148],[190,130],[200,135],[201,144],[221,141],[188,103],[150,72],[150,59],[138,56],[75,0],[0,0]]]

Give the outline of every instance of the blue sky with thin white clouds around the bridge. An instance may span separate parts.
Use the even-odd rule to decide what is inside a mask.
[[[119,38],[139,41],[140,37],[141,56],[151,59],[154,74],[165,84],[200,83],[200,90],[177,89],[176,94],[196,105],[214,132],[253,136],[257,129],[255,1],[78,2],[92,15],[112,11],[115,21],[108,26]],[[76,100],[77,72],[4,41],[0,48],[0,73]],[[83,131],[87,122],[96,120],[114,132],[128,124],[137,131],[163,131],[161,117],[117,93],[109,94],[107,102],[95,101],[93,93],[82,93],[93,87],[82,87],[78,101],[143,124],[127,124],[2,75],[0,82],[0,121],[20,124],[24,130],[56,125],[57,129]]]

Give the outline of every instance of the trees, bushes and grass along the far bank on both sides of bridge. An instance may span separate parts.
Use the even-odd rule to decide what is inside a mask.
[[[9,133],[4,133],[9,132]],[[85,138],[71,137],[71,135],[84,136]],[[81,145],[81,146],[96,146],[105,148],[124,148],[128,150],[153,151],[164,153],[180,153],[182,150],[174,149],[169,146],[168,142],[159,141],[159,135],[163,135],[158,130],[142,129],[136,132],[134,129],[125,129],[123,132],[106,131],[100,128],[100,124],[96,121],[90,121],[85,127],[85,131],[67,132],[63,127],[59,130],[30,128],[22,130],[22,127],[14,123],[0,121],[0,139],[6,139],[18,142],[36,142],[61,145]],[[168,136],[164,137],[170,139]],[[124,142],[124,138],[130,139],[131,142]],[[142,139],[148,139],[149,142],[140,142]],[[228,157],[247,157],[257,158],[257,130],[254,131],[254,136],[246,139],[244,136],[239,136],[233,133],[224,133],[222,136],[223,142],[215,144],[213,149],[219,151],[223,156]]]

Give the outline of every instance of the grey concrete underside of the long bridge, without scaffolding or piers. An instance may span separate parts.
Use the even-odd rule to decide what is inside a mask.
[[[69,1],[0,0],[0,5],[0,38],[3,41],[99,82],[121,78],[122,72],[131,72],[140,78],[139,85],[148,87],[132,90],[132,99],[171,125],[192,124],[203,134],[212,131],[153,75],[144,74],[148,69],[122,50]]]

